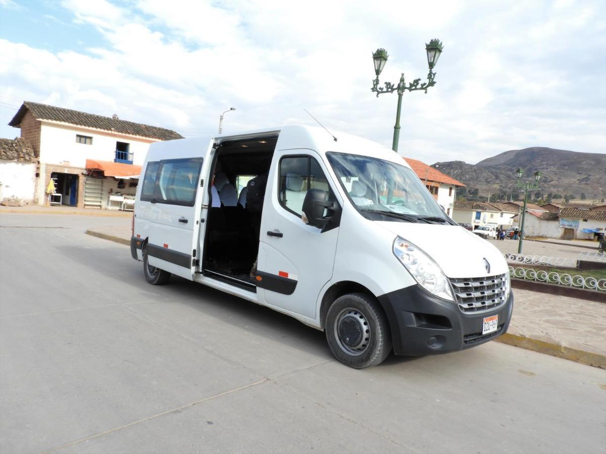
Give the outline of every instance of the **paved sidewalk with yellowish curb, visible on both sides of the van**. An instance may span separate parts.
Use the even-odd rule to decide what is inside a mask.
[[[130,245],[130,226],[121,224],[86,233]],[[509,330],[498,341],[606,369],[606,304],[522,289],[514,294]]]

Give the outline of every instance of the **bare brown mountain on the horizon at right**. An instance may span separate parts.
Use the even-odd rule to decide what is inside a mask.
[[[524,171],[522,180],[534,183],[533,174],[542,174],[539,189],[543,194],[574,194],[571,199],[581,199],[581,194],[590,200],[606,197],[606,154],[579,153],[578,151],[555,150],[542,146],[510,150],[477,164],[462,161],[436,162],[439,171],[467,185],[467,192],[479,189],[479,194],[519,194],[516,188],[516,169]],[[508,196],[507,196],[508,197]],[[515,196],[514,196],[515,197]],[[494,200],[494,199],[493,199]]]

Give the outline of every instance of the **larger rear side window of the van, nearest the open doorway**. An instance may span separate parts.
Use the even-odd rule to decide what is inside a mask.
[[[202,159],[171,159],[161,162],[154,197],[158,203],[193,206]]]

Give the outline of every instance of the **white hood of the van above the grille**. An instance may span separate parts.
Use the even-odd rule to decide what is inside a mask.
[[[485,277],[508,272],[499,249],[458,225],[375,221],[423,249],[447,277]],[[484,258],[490,265],[486,270]]]

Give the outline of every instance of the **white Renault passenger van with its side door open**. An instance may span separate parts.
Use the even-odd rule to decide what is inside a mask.
[[[149,283],[175,274],[288,314],[358,369],[479,345],[513,308],[502,254],[401,156],[321,128],[153,143],[131,252]]]

